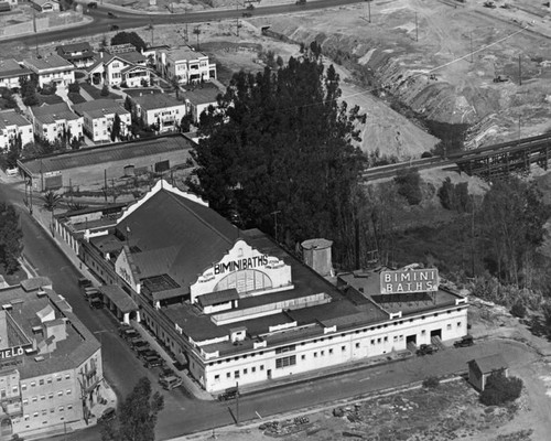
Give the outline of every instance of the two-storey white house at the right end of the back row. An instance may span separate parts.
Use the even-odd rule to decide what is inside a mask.
[[[161,76],[169,82],[176,78],[180,84],[191,84],[216,78],[216,64],[209,63],[208,55],[188,46],[159,50],[155,65]]]

